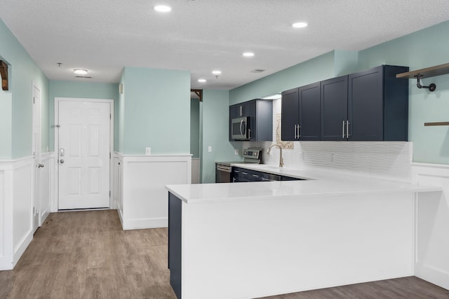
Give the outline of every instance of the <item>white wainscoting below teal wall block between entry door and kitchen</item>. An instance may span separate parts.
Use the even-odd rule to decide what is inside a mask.
[[[123,230],[168,227],[165,186],[191,183],[192,155],[116,153],[116,159],[114,177],[119,186],[114,197]]]

